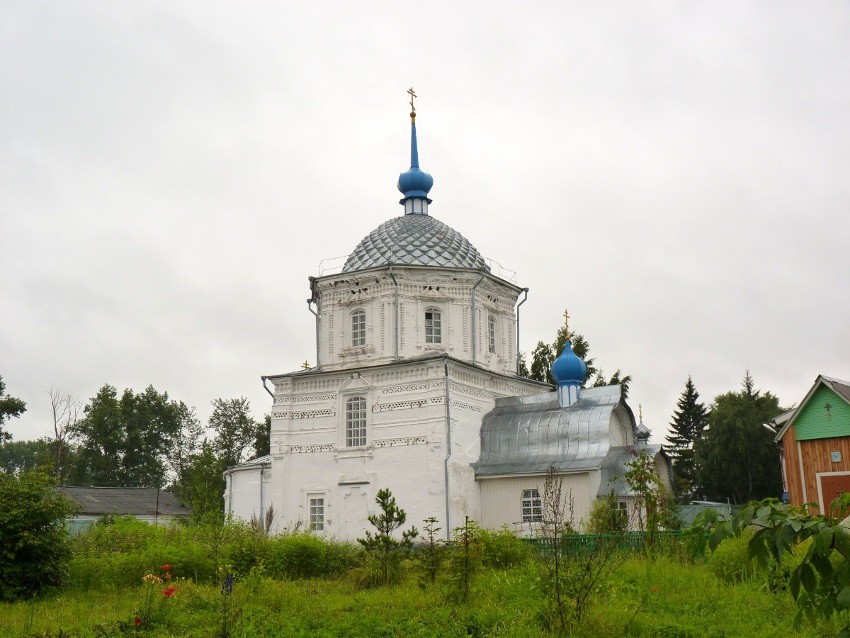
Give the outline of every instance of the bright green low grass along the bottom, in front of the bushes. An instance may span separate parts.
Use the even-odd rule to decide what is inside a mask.
[[[65,590],[53,597],[0,606],[0,636],[549,636],[540,622],[533,562],[485,569],[469,602],[451,602],[445,585],[420,589],[411,573],[399,585],[361,589],[351,575],[273,580],[254,569],[232,594],[183,580],[130,588]],[[150,598],[148,598],[150,596]],[[150,604],[146,607],[147,602]],[[719,580],[705,565],[674,559],[630,559],[594,593],[572,636],[832,636],[833,626],[792,625],[787,595],[757,579]],[[135,624],[140,615],[144,623]]]

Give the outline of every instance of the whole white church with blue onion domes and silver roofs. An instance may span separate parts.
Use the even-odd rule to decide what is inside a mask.
[[[226,512],[262,520],[273,508],[274,529],[354,540],[389,488],[420,529],[433,516],[449,537],[469,516],[528,534],[552,466],[577,525],[612,490],[628,507],[622,476],[639,448],[669,486],[669,459],[620,386],[582,388],[586,366],[569,344],[554,390],[517,375],[528,289],[431,216],[412,98],[410,116],[404,214],[366,235],[340,272],[309,278],[316,365],[262,377],[271,454],[227,470]]]

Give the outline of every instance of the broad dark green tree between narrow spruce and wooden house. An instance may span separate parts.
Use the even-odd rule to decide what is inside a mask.
[[[700,494],[747,503],[782,492],[779,451],[773,433],[763,426],[781,412],[779,400],[756,390],[749,372],[741,391],[714,399],[708,429],[694,443]]]

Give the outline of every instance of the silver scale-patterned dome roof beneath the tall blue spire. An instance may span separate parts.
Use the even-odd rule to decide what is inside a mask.
[[[384,222],[357,244],[342,271],[387,264],[490,270],[469,240],[430,215],[403,215]]]

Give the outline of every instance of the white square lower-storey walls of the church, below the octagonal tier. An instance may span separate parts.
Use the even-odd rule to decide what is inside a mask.
[[[273,493],[279,526],[300,522],[309,527],[310,499],[321,498],[326,524],[319,531],[349,540],[368,528],[366,516],[374,512],[375,495],[383,487],[396,496],[408,521],[419,527],[431,516],[444,530],[461,525],[466,515],[480,519],[471,464],[479,454],[481,418],[493,408],[496,396],[539,391],[537,384],[442,358],[278,378],[273,383]],[[366,445],[349,448],[344,436],[346,401],[357,396],[366,399]]]

